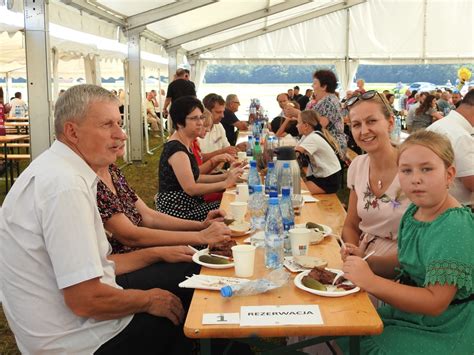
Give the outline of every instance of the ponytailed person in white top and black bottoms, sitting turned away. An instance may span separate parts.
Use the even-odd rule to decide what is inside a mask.
[[[339,146],[329,131],[321,126],[316,111],[298,114],[298,132],[302,135],[295,150],[309,158],[306,186],[312,194],[335,193],[341,184]]]

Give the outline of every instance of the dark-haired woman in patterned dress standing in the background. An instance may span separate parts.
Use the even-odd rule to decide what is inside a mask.
[[[346,135],[344,134],[344,120],[339,99],[335,95],[337,88],[336,75],[331,70],[317,70],[313,74],[313,89],[316,104],[310,109],[315,110],[320,119],[321,126],[327,129],[336,139],[340,147],[340,159],[344,159],[347,149]],[[285,115],[297,117],[299,110],[285,108]]]

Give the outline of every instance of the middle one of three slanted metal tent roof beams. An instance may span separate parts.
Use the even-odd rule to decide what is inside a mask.
[[[248,13],[242,16],[238,16],[235,18],[232,18],[230,20],[222,21],[219,23],[216,23],[214,25],[208,26],[201,28],[199,30],[193,31],[193,32],[188,32],[183,35],[170,38],[169,40],[166,41],[165,48],[173,48],[180,46],[184,43],[195,41],[197,39],[226,31],[228,29],[259,20],[261,18],[267,18],[268,16],[293,9],[295,7],[304,5],[309,3],[311,0],[293,0],[291,2],[283,2],[274,6],[266,7],[264,9]]]

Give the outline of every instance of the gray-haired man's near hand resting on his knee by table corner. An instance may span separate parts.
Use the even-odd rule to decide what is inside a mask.
[[[147,293],[150,297],[147,313],[168,318],[174,325],[183,322],[184,309],[178,297],[159,288],[148,290]]]

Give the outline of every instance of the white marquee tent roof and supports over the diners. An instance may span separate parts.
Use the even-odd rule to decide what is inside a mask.
[[[0,8],[5,2],[0,0]],[[8,33],[1,34],[0,49],[12,47],[7,43],[14,41],[17,45],[5,51],[8,55],[0,53],[0,73],[25,65],[22,39],[26,37],[28,43],[31,17],[42,18],[33,6],[43,3],[13,1],[13,12],[21,14],[25,8],[25,25],[0,17],[0,32]],[[142,152],[140,123],[133,125],[139,121],[140,110],[134,106],[140,105],[141,95],[135,81],[140,80],[142,68],[164,73],[166,60],[170,73],[189,62],[197,84],[207,64],[334,64],[343,88],[359,64],[474,62],[471,0],[51,0],[46,8],[50,25],[39,28],[49,31],[50,47],[55,48],[53,63],[86,58],[85,67],[90,68],[86,76],[94,82],[100,72],[123,73],[125,61],[130,77],[132,159],[136,160]],[[53,33],[54,26],[103,40],[99,45],[77,43]],[[23,28],[25,36],[18,33]],[[35,23],[33,32],[37,29]],[[107,40],[115,45],[101,45]],[[143,60],[144,52],[154,56]],[[106,63],[114,69],[106,69]],[[32,127],[32,141],[34,134]]]

